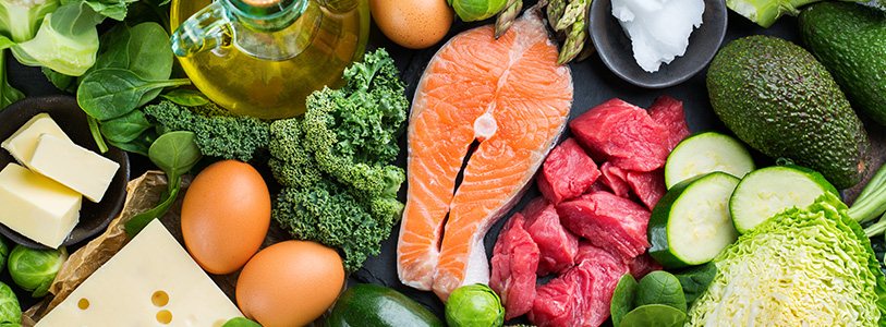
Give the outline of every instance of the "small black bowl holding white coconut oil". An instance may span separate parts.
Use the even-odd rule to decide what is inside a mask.
[[[704,0],[702,25],[689,36],[689,47],[682,57],[662,64],[657,72],[644,71],[636,63],[631,38],[612,16],[610,0],[591,2],[588,32],[603,63],[622,80],[646,88],[664,88],[689,80],[704,69],[723,44],[726,35],[727,8],[724,0]]]

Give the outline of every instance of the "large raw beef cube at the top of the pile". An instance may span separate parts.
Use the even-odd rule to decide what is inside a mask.
[[[665,128],[646,110],[617,98],[591,108],[569,126],[592,157],[622,169],[653,171],[665,166],[668,157]]]

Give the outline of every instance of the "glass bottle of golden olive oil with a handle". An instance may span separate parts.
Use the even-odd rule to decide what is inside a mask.
[[[173,52],[209,99],[262,119],[295,117],[343,86],[369,32],[366,0],[173,0]]]

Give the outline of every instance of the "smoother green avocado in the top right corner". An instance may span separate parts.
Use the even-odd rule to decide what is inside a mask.
[[[886,12],[855,2],[808,5],[798,19],[803,44],[852,107],[886,125]]]

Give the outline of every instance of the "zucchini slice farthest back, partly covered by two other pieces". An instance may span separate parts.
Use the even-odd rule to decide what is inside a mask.
[[[717,132],[690,135],[670,152],[665,164],[665,185],[668,190],[691,177],[723,171],[742,178],[754,170],[748,148],[732,136]]]

